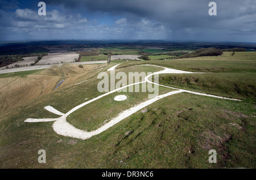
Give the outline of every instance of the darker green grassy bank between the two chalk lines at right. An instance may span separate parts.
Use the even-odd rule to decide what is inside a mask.
[[[256,73],[165,74],[163,85],[256,102]]]

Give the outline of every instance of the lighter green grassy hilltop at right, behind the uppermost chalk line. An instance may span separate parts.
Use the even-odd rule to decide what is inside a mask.
[[[183,58],[179,60],[154,60],[125,62],[118,68],[139,64],[154,64],[191,72],[255,72],[256,52],[236,52],[232,57],[230,52],[224,52],[222,56]]]

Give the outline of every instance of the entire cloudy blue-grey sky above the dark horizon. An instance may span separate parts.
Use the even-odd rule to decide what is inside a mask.
[[[209,3],[217,4],[210,16]],[[0,41],[256,42],[255,0],[0,0]]]

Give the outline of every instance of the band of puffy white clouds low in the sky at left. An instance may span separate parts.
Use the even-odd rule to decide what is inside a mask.
[[[97,19],[88,20],[81,14],[64,14],[58,10],[47,11],[46,16],[39,16],[31,9],[0,12],[2,16],[9,17],[8,20],[2,18],[0,24],[6,23],[9,32],[15,32],[15,37],[20,38],[26,35],[31,39],[163,39],[166,33],[163,24],[145,18],[137,22],[120,18],[114,24],[102,24]],[[7,28],[1,32],[2,36],[10,34]]]

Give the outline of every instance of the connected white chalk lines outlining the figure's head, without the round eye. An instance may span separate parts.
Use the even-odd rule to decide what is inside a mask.
[[[164,68],[164,67],[161,67],[161,66],[159,66],[159,67],[160,68]],[[115,125],[115,124],[117,124],[119,122],[121,122],[121,120],[129,117],[130,115],[132,115],[135,112],[141,110],[142,108],[144,108],[146,106],[149,106],[150,104],[158,101],[159,99],[168,97],[170,95],[174,95],[174,94],[184,93],[185,92],[185,93],[192,93],[192,94],[197,94],[197,95],[204,95],[204,96],[207,96],[207,97],[214,97],[214,98],[221,98],[221,99],[230,99],[230,98],[218,97],[218,96],[215,96],[215,95],[204,94],[204,93],[197,93],[197,92],[194,92],[194,91],[176,89],[176,88],[173,88],[173,87],[160,85],[160,86],[168,87],[168,88],[171,88],[171,89],[176,89],[176,91],[171,91],[171,92],[163,94],[163,95],[158,95],[158,96],[156,96],[154,98],[148,99],[145,102],[137,104],[136,106],[131,107],[128,110],[122,111],[115,118],[110,120],[110,122],[106,123],[105,125],[102,125],[102,127],[96,129],[95,131],[87,132],[87,131],[84,131],[82,129],[77,129],[76,127],[74,127],[73,125],[71,125],[71,124],[69,124],[67,122],[67,116],[69,114],[71,114],[72,112],[74,112],[74,111],[78,110],[79,108],[85,106],[86,104],[89,104],[91,102],[94,102],[94,101],[102,98],[102,97],[105,97],[106,95],[112,94],[112,93],[114,93],[116,91],[119,91],[119,90],[122,90],[122,89],[124,89],[126,87],[134,86],[134,85],[137,85],[137,84],[140,84],[140,83],[148,82],[148,83],[154,83],[155,85],[159,85],[158,83],[149,81],[148,77],[153,76],[154,74],[165,74],[165,73],[179,73],[180,74],[180,73],[193,73],[193,72],[185,72],[185,71],[176,70],[176,69],[164,68],[164,70],[162,70],[160,72],[156,72],[156,73],[148,75],[145,78],[145,80],[142,81],[142,82],[133,83],[131,85],[123,86],[123,87],[120,87],[120,88],[115,89],[113,91],[109,91],[108,93],[102,94],[102,95],[100,95],[100,96],[98,96],[98,97],[96,97],[94,99],[91,99],[90,101],[87,101],[85,103],[80,104],[79,106],[76,106],[76,107],[72,108],[72,110],[70,110],[66,114],[63,114],[62,112],[56,110],[55,108],[53,108],[51,106],[44,107],[47,111],[52,112],[52,113],[57,114],[57,115],[60,115],[61,116],[60,118],[51,118],[51,119],[31,119],[31,118],[29,118],[29,119],[26,119],[24,122],[34,123],[34,122],[52,122],[52,121],[55,121],[52,124],[52,127],[53,127],[53,130],[57,134],[85,140],[85,139],[89,139],[92,136],[98,135],[101,132],[106,131],[106,129],[112,127],[113,125]],[[230,99],[230,100],[240,101],[238,99]]]

